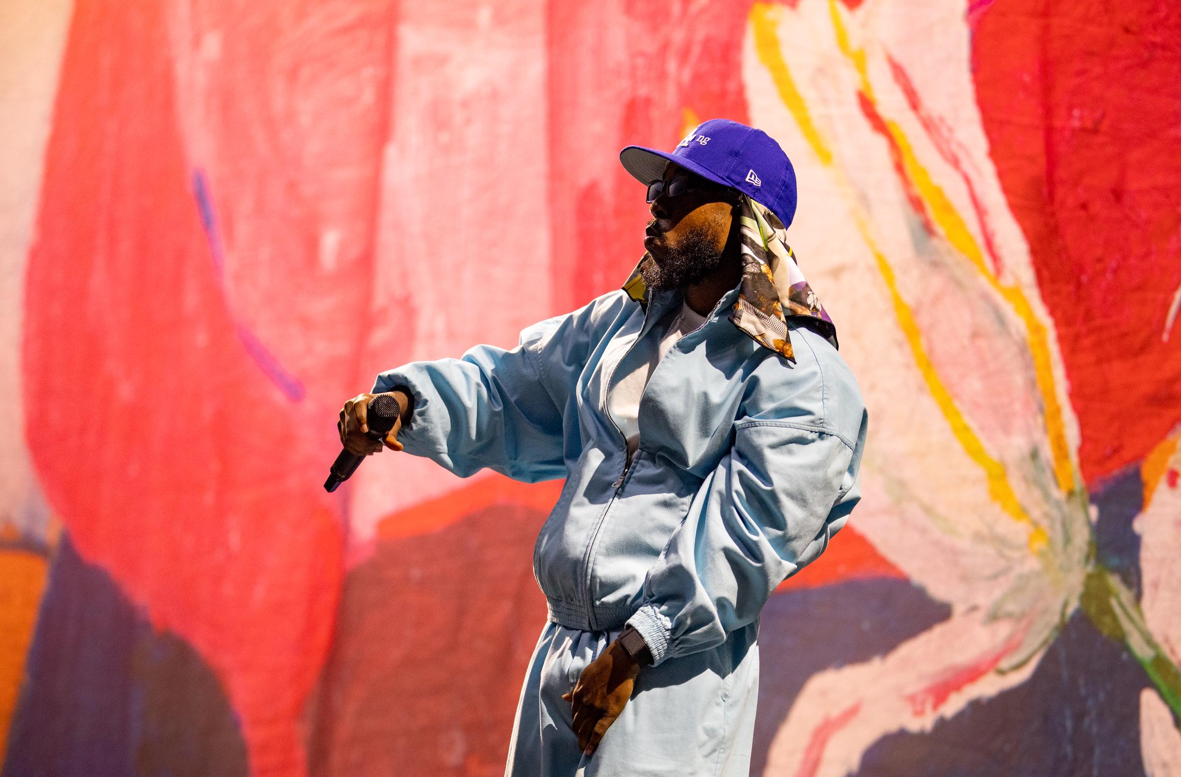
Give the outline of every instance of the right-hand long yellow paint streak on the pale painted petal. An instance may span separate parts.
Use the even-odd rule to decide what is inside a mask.
[[[879,115],[881,109],[874,98],[873,86],[869,81],[869,71],[866,66],[866,53],[863,50],[854,50],[849,44],[849,35],[841,20],[841,12],[836,0],[829,0],[829,15],[836,33],[837,46],[841,52],[853,63],[857,76],[861,79],[861,91],[874,105]],[[902,170],[913,184],[919,198],[926,204],[932,220],[939,226],[947,242],[951,243],[961,256],[968,260],[972,267],[984,276],[988,286],[996,290],[1013,313],[1025,325],[1027,333],[1026,345],[1033,360],[1033,377],[1037,383],[1038,393],[1042,397],[1042,406],[1045,411],[1046,439],[1050,444],[1050,457],[1053,461],[1055,479],[1058,489],[1063,494],[1070,494],[1077,485],[1075,462],[1070,455],[1070,445],[1066,442],[1066,425],[1063,419],[1062,404],[1058,401],[1058,392],[1055,387],[1053,360],[1050,355],[1050,338],[1045,325],[1038,319],[1029,303],[1025,293],[1014,285],[1001,283],[993,274],[992,268],[984,260],[984,252],[967,228],[955,205],[944,189],[934,182],[928,170],[919,162],[914,148],[907,139],[906,133],[898,125],[883,117],[886,129],[894,141],[902,158]]]

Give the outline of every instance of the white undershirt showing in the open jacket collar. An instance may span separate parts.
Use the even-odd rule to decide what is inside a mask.
[[[627,364],[620,364],[624,354],[639,337],[639,332],[632,332],[616,337],[607,353],[603,354],[608,376],[611,376],[612,364],[618,365],[615,374],[608,378],[614,380],[608,406],[615,425],[627,438],[628,451],[634,453],[640,444],[640,397],[644,394],[644,386],[648,384],[648,378],[652,377],[652,371],[657,368],[657,364],[664,359],[677,340],[705,324],[705,319],[706,316],[684,303],[680,307],[680,314],[668,325],[668,329],[660,338],[655,348],[652,348],[651,338],[646,338],[648,342],[638,345],[635,351],[628,354]]]

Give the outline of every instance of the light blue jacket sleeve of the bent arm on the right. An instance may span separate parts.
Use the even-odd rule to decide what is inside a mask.
[[[785,405],[736,423],[729,453],[702,483],[628,620],[655,664],[722,644],[824,551],[860,500],[860,412],[854,439],[800,423]]]

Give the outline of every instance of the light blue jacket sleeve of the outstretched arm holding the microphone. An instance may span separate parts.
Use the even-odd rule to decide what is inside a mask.
[[[594,337],[593,305],[526,328],[511,350],[478,345],[380,373],[373,392],[406,386],[415,397],[398,442],[461,477],[483,468],[527,483],[566,477],[562,409]]]

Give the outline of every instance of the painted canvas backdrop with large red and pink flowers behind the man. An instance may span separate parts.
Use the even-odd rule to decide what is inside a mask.
[[[335,414],[618,287],[716,116],[870,413],[755,773],[1181,771],[1179,84],[1164,0],[4,4],[2,773],[501,773],[556,484],[329,496]]]

